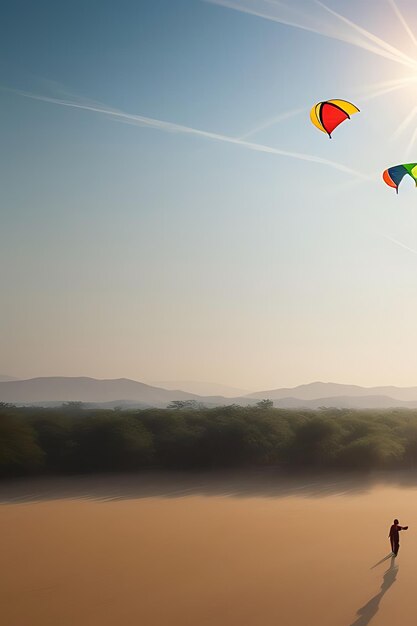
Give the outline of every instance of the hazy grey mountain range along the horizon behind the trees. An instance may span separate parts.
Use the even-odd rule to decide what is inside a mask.
[[[417,408],[417,387],[360,387],[315,382],[298,387],[225,397],[199,395],[181,389],[164,389],[127,378],[97,380],[87,377],[55,376],[14,380],[8,376],[0,377],[0,402],[18,405],[53,406],[78,401],[90,406],[109,408],[115,406],[145,408],[166,407],[173,400],[194,400],[213,407],[227,404],[255,404],[264,398],[273,400],[275,407],[292,409]]]

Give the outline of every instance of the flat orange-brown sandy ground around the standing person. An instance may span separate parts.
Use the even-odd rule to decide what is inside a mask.
[[[417,623],[404,476],[17,481],[0,503],[5,626]],[[394,516],[410,529],[376,565]]]

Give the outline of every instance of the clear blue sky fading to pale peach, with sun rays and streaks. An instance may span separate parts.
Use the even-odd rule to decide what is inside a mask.
[[[0,11],[0,373],[417,384],[411,0]],[[319,101],[360,113],[331,140]]]

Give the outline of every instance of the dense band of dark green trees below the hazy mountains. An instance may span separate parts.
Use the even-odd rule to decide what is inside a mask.
[[[0,404],[0,476],[145,468],[368,470],[417,465],[417,411],[204,408],[97,410]]]

